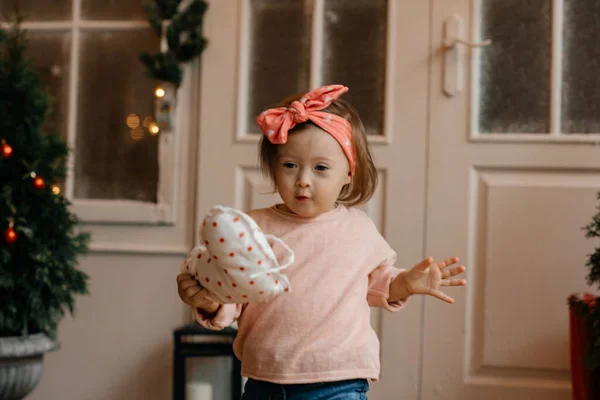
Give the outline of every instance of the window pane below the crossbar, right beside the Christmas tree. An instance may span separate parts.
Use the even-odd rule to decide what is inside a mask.
[[[48,93],[54,98],[44,131],[66,139],[71,34],[29,31],[27,38],[26,54],[40,73]]]

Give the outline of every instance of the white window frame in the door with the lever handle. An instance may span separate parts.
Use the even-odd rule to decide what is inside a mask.
[[[473,24],[471,36],[476,42],[482,41],[481,32],[481,2],[485,0],[472,0]],[[561,107],[562,107],[562,50],[564,27],[564,0],[552,2],[552,61],[550,84],[550,132],[540,133],[481,133],[479,127],[479,82],[481,68],[481,49],[471,49],[471,115],[470,137],[472,142],[521,142],[521,143],[591,143],[600,144],[600,133],[562,133]]]

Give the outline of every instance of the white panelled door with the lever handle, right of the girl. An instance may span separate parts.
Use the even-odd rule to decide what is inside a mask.
[[[600,188],[598,2],[432,4],[425,251],[462,256],[469,283],[425,302],[421,398],[570,399],[566,298],[586,288]],[[459,38],[492,44],[443,51],[461,19]]]

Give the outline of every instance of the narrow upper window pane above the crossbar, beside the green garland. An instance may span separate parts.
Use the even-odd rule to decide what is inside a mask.
[[[81,18],[85,20],[146,20],[143,5],[148,0],[81,0]]]

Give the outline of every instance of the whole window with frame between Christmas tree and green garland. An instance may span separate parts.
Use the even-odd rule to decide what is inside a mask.
[[[159,108],[175,118],[174,93],[157,97],[138,60],[160,49],[144,2],[19,1],[28,55],[55,98],[46,129],[73,150],[65,195],[86,222],[174,222],[179,140],[156,121]],[[2,22],[13,3],[0,3]]]

